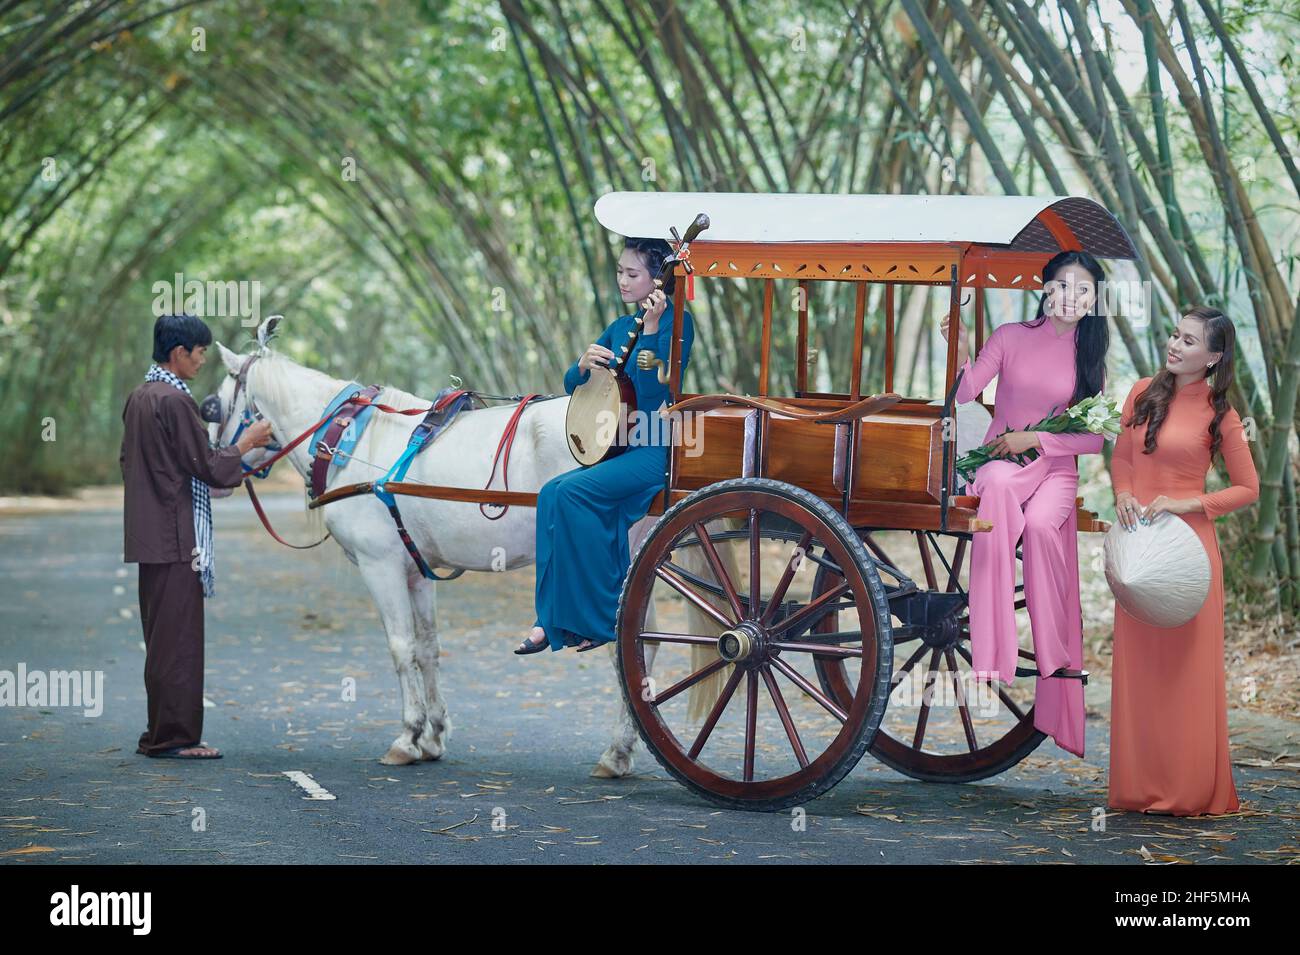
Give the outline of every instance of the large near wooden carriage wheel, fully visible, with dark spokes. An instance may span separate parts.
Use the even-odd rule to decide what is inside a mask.
[[[740,529],[715,530],[720,518]],[[738,574],[728,573],[724,548]],[[699,573],[682,567],[692,551]],[[836,579],[812,599],[819,568]],[[712,621],[711,631],[649,629],[647,611],[666,590],[668,603]],[[853,630],[809,634],[828,608]],[[632,561],[618,633],[619,677],[646,747],[719,806],[776,811],[816,798],[853,769],[884,715],[893,647],[875,561],[833,508],[780,481],[722,481],[670,508]],[[653,643],[660,654],[703,646],[718,656],[660,689],[646,665]],[[814,651],[853,674],[852,693],[832,700],[816,686]],[[689,719],[682,691],[715,673],[722,693],[706,716]]]

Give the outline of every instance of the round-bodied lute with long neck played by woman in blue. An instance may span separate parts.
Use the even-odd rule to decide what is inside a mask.
[[[682,264],[690,272],[690,243],[708,227],[708,216],[699,213],[681,236],[676,229],[670,229],[673,238],[673,252],[664,259],[663,266],[654,281],[655,288]],[[569,451],[578,464],[588,466],[599,464],[606,457],[621,453],[625,447],[619,443],[620,435],[628,434],[627,420],[637,409],[636,387],[627,373],[628,356],[637,347],[641,329],[645,325],[645,307],[637,309],[628,340],[610,360],[610,365],[592,368],[590,377],[573,388],[569,398],[568,414],[564,418],[564,434],[568,435]],[[663,318],[660,318],[663,321]]]

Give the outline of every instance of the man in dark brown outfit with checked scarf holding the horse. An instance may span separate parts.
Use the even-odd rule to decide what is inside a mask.
[[[203,598],[212,581],[205,485],[237,487],[243,478],[239,459],[270,440],[270,425],[257,421],[238,443],[209,447],[185,385],[203,368],[209,344],[212,333],[200,318],[161,316],[153,324],[155,364],[122,411],[124,560],[140,565],[148,695],[148,729],[136,752],[147,756],[221,756],[200,742]],[[196,534],[196,522],[203,534]]]

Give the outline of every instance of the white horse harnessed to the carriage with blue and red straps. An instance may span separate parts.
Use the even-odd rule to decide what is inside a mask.
[[[265,340],[265,327],[264,324],[259,330],[259,340]],[[235,376],[250,356],[238,355],[220,342],[217,348],[229,372],[218,390],[221,405],[226,409],[224,425],[218,429],[221,444],[231,440],[250,401],[254,411],[270,424],[276,440],[282,446],[287,444],[318,421],[330,400],[347,385],[263,347],[257,360],[247,369],[244,388],[235,398]],[[376,400],[399,409],[428,408],[430,404],[428,399],[391,387],[384,388]],[[530,404],[524,411],[511,452],[511,490],[536,492],[556,474],[577,466],[564,438],[567,408],[568,399],[559,398]],[[460,413],[415,457],[406,479],[454,487],[485,487],[497,444],[512,412],[514,405],[502,405]],[[354,448],[354,460],[346,468],[330,468],[326,489],[380,477],[374,470],[363,473],[364,465],[360,463],[390,466],[406,448],[407,439],[421,417],[373,411]],[[304,481],[311,473],[311,439],[303,442],[285,459]],[[250,452],[244,463],[257,468],[268,457],[270,452],[259,448]],[[499,474],[494,487],[500,487]],[[534,560],[534,508],[511,507],[502,518],[489,521],[482,517],[477,505],[463,502],[408,496],[400,498],[399,504],[403,522],[430,567],[504,570]],[[421,759],[438,759],[446,752],[451,720],[438,690],[434,582],[416,568],[398,537],[387,508],[373,494],[334,502],[321,511],[325,528],[361,572],[361,579],[380,612],[389,652],[396,668],[402,693],[402,733],[380,761],[406,765]],[[647,516],[633,525],[629,535],[633,552],[654,520]],[[708,576],[702,563],[698,569]],[[688,609],[688,618],[693,628],[712,628],[693,629],[693,633],[712,633],[718,629],[694,608]],[[650,644],[647,656],[651,656],[653,650],[654,644]],[[618,667],[616,655],[610,656]],[[653,663],[653,656],[647,663]],[[699,712],[716,695],[716,681],[712,678],[702,681],[697,687],[698,693],[690,702],[692,712]],[[625,706],[621,709],[614,738],[597,763],[593,776],[620,777],[632,772],[632,748],[637,732],[630,711]]]

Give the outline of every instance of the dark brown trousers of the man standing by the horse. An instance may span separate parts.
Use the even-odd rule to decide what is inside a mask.
[[[148,729],[136,752],[195,746],[203,737],[203,582],[182,564],[140,564]]]

